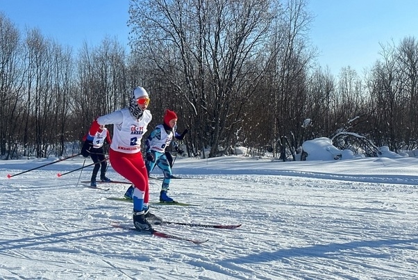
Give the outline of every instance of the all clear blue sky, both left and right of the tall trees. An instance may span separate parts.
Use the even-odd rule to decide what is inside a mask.
[[[418,0],[308,0],[315,16],[310,30],[318,62],[338,74],[350,66],[362,74],[381,58],[380,43],[418,38]],[[79,49],[96,46],[106,36],[128,48],[129,0],[0,0],[17,28],[39,28],[60,44]]]

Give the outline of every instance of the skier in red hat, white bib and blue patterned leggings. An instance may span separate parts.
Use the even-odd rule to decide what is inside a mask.
[[[174,111],[167,109],[163,118],[162,124],[156,126],[145,141],[145,150],[147,151],[147,160],[145,165],[147,167],[148,176],[154,167],[158,166],[164,174],[164,180],[162,181],[160,202],[176,202],[174,199],[167,195],[167,191],[172,179],[172,163],[173,158],[169,151],[165,149],[169,147],[173,140],[173,137],[178,140],[183,140],[187,129],[183,133],[178,134],[176,132],[177,115]],[[178,145],[174,142],[174,148],[178,154],[183,154],[184,151],[178,148]],[[133,192],[133,186],[129,187],[125,192],[125,198],[131,199]]]

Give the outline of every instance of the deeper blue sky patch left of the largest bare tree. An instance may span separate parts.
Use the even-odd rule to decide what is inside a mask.
[[[128,48],[129,0],[0,0],[0,11],[19,30],[39,28],[47,38],[72,46],[97,46],[107,37]]]

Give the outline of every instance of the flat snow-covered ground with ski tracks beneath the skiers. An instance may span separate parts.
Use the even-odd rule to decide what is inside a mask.
[[[418,158],[176,158],[174,174],[194,179],[172,180],[169,194],[199,206],[154,205],[153,213],[242,224],[156,227],[209,239],[202,245],[112,227],[132,224],[131,204],[106,199],[128,185],[78,183],[92,167],[57,176],[84,158],[7,177],[53,160],[0,161],[0,279],[418,278]],[[124,181],[112,167],[107,176]],[[151,201],[160,183],[150,180]]]

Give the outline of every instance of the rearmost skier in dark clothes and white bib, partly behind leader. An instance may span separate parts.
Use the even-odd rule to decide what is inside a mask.
[[[99,130],[90,133],[87,132],[86,135],[83,137],[84,145],[81,148],[81,154],[87,158],[93,160],[94,168],[92,172],[92,178],[90,179],[90,186],[96,188],[96,177],[97,173],[100,169],[100,180],[102,182],[110,182],[110,179],[106,177],[106,169],[108,167],[108,163],[104,154],[103,144],[104,141],[107,141],[109,144],[112,144],[112,140],[110,140],[110,134],[108,129],[104,126],[100,126]]]

